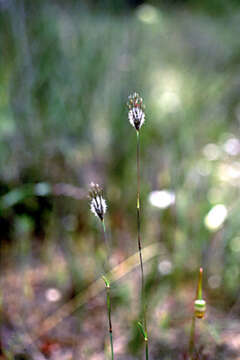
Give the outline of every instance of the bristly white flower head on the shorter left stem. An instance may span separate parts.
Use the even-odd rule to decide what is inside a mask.
[[[90,209],[93,214],[103,221],[104,214],[107,210],[106,200],[103,198],[103,190],[98,184],[91,183],[89,191]]]

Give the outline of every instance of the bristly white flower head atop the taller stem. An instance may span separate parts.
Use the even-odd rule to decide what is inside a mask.
[[[129,95],[127,106],[129,108],[128,120],[130,124],[139,131],[145,121],[143,99],[135,92]]]

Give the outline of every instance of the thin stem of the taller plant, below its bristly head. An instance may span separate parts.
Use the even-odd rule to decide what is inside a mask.
[[[143,260],[142,260],[142,246],[141,246],[141,219],[140,219],[140,134],[137,131],[137,240],[138,240],[138,251],[141,267],[141,302],[143,312],[143,327],[146,334],[145,339],[145,350],[146,360],[148,360],[148,337],[147,337],[147,308],[145,299],[144,289],[144,271],[143,271]]]

